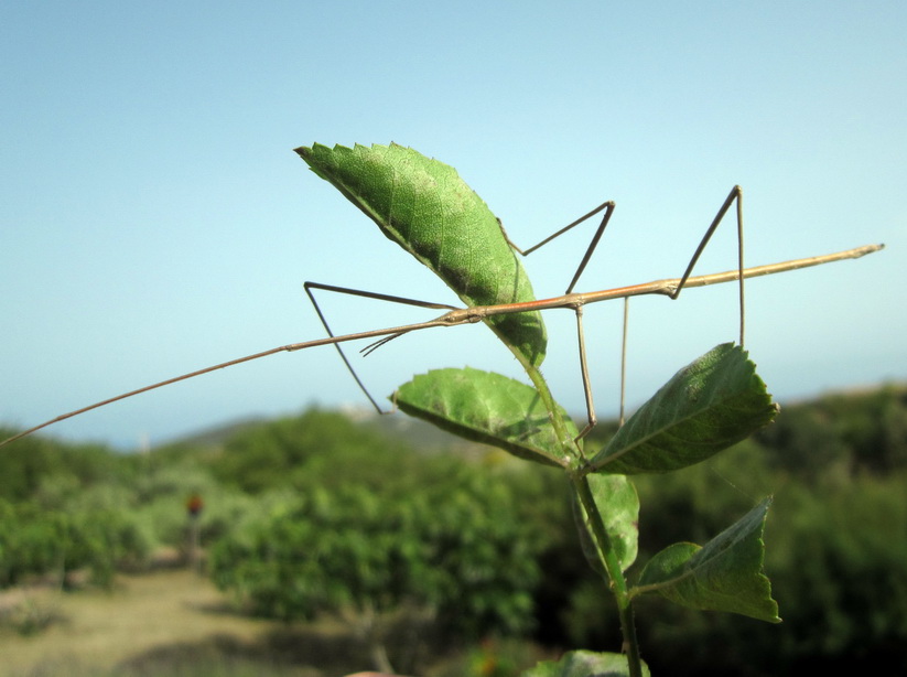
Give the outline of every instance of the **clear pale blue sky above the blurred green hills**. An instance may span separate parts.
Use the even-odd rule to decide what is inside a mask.
[[[34,2],[0,9],[0,421],[322,335],[305,280],[454,302],[298,146],[387,143],[457,168],[521,245],[617,208],[580,290],[676,277],[735,183],[757,280],[747,347],[782,404],[907,377],[901,2]],[[724,226],[698,272],[734,267]],[[591,228],[532,255],[565,288]],[[736,332],[731,286],[631,304],[630,405]],[[426,319],[325,298],[338,332]],[[544,373],[582,410],[573,320]],[[586,311],[617,408],[619,303]],[[462,366],[519,376],[482,326],[357,359],[376,397]],[[237,417],[363,405],[330,347],[133,398],[48,432],[122,449]]]

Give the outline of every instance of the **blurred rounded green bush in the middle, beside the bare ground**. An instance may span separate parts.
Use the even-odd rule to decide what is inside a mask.
[[[212,549],[214,581],[253,612],[341,617],[386,670],[385,636],[403,616],[413,640],[417,625],[472,637],[531,626],[539,538],[496,473],[461,463],[407,491],[317,479],[298,491]]]

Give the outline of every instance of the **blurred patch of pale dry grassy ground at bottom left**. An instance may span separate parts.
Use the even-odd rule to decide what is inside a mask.
[[[55,622],[30,636],[3,628],[0,677],[327,677],[369,667],[342,628],[292,631],[241,616],[188,571],[120,577],[110,592],[7,594],[52,612]]]

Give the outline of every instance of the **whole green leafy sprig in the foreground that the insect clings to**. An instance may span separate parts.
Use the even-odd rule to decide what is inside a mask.
[[[634,599],[640,594],[659,594],[694,609],[780,620],[763,574],[762,534],[769,498],[702,547],[679,542],[661,550],[636,583],[626,573],[636,559],[639,511],[629,476],[704,461],[777,413],[742,347],[719,345],[678,372],[607,444],[596,448],[583,440],[541,374],[547,337],[526,272],[494,214],[452,168],[395,144],[315,144],[298,152],[471,308],[521,304],[519,310],[527,311],[474,310],[469,321],[488,324],[531,385],[468,367],[439,369],[401,386],[393,401],[407,413],[458,436],[559,468],[569,479],[585,554],[615,598],[626,657],[573,654],[559,664],[539,666],[532,675],[591,675],[601,669],[643,675],[647,668],[633,615]],[[577,316],[580,309],[577,303]]]

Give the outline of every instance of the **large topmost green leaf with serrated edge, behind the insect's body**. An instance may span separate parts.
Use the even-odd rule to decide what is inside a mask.
[[[296,152],[467,305],[536,300],[497,218],[452,166],[396,143],[333,149],[315,143]],[[485,322],[514,353],[541,365],[547,347],[541,313]]]

